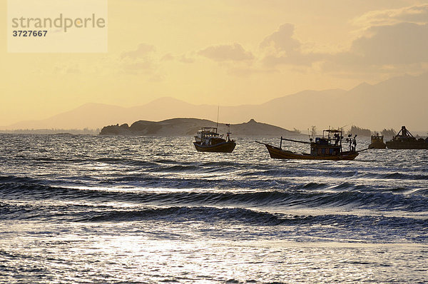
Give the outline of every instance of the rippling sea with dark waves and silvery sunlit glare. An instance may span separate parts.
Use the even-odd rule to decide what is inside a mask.
[[[428,151],[0,139],[1,283],[428,283]]]

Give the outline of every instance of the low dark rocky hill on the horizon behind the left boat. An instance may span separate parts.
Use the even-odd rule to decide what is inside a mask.
[[[173,118],[165,121],[136,121],[131,126],[118,124],[105,126],[101,135],[138,135],[138,136],[194,136],[201,127],[215,127],[214,121],[198,118]],[[225,134],[228,126],[218,123],[218,133]],[[232,136],[302,136],[295,131],[259,123],[251,119],[247,123],[231,124]]]

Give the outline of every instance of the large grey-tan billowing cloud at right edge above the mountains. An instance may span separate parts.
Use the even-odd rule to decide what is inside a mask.
[[[322,69],[372,73],[427,70],[428,24],[372,26],[367,34],[355,39],[349,51],[325,56]]]

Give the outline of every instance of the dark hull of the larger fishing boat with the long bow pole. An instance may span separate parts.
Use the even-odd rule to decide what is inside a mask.
[[[265,144],[267,151],[269,151],[270,158],[280,159],[297,159],[297,160],[330,160],[330,161],[352,161],[358,156],[358,152],[342,152],[341,155],[325,155],[325,156],[312,156],[306,153],[294,153],[292,151],[282,150],[275,146]]]

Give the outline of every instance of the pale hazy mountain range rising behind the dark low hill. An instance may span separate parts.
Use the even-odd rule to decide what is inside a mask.
[[[301,91],[260,105],[221,106],[220,121],[242,123],[254,118],[283,128],[307,129],[357,125],[372,130],[399,128],[427,130],[428,73],[399,76],[375,85],[362,83],[349,91]],[[263,96],[263,93],[260,94]],[[143,106],[123,108],[87,103],[72,111],[41,121],[22,121],[7,126],[17,128],[102,128],[111,124],[133,123],[141,119],[162,121],[193,117],[217,119],[215,105],[194,105],[175,98],[159,98]]]

